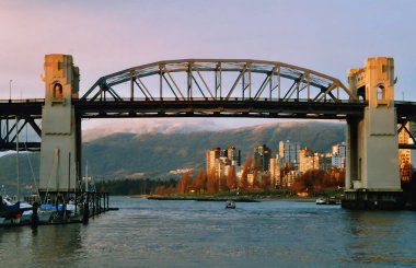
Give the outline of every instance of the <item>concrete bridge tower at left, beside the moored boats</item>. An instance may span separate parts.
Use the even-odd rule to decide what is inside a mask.
[[[79,189],[81,118],[71,103],[79,91],[79,69],[72,56],[46,55],[43,80],[39,191],[73,193]]]

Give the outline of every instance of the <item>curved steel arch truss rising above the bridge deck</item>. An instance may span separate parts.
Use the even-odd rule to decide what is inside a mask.
[[[81,101],[126,102],[137,97],[358,101],[333,77],[282,62],[250,59],[183,59],[143,65],[100,78]]]

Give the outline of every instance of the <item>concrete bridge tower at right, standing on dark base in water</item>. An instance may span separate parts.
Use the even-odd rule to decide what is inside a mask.
[[[400,209],[398,144],[392,58],[367,58],[350,69],[349,90],[368,102],[363,118],[348,118],[347,173],[343,207]]]

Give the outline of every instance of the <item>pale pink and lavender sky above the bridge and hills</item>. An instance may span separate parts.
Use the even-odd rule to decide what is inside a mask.
[[[160,60],[281,61],[347,84],[348,69],[388,56],[396,100],[416,101],[415,11],[414,0],[2,0],[0,100],[9,98],[10,80],[12,98],[44,97],[44,55],[69,54],[81,95],[102,75]]]

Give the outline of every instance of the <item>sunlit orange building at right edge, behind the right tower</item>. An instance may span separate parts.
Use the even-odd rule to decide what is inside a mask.
[[[413,137],[416,137],[416,124],[415,123],[407,123],[406,129],[412,133]],[[411,144],[413,143],[413,140],[408,132],[405,129],[402,129],[400,133],[397,135],[398,143],[401,144]],[[400,149],[398,150],[398,162],[400,162],[400,176],[401,179],[406,182],[409,180],[413,173],[413,166],[412,161],[415,158],[412,158],[412,150],[411,149]]]

